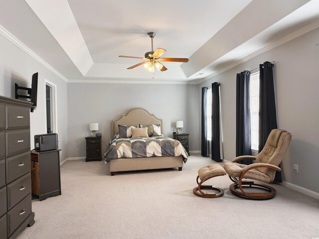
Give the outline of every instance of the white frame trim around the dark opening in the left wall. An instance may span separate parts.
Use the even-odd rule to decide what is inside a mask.
[[[46,86],[50,87],[50,95],[51,95],[51,131],[53,133],[58,132],[58,116],[57,116],[57,87],[55,84],[45,79],[44,82],[44,91],[46,92]],[[44,102],[46,102],[46,93],[44,94]],[[46,107],[46,104],[45,104]],[[46,122],[46,114],[45,114],[45,122]],[[47,131],[46,123],[45,123],[45,132]]]

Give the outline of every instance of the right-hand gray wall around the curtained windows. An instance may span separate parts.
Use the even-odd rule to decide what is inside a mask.
[[[198,87],[220,82],[224,159],[235,157],[236,73],[275,61],[274,84],[278,127],[292,133],[283,161],[286,182],[319,192],[319,28],[248,60]],[[200,104],[199,104],[200,105]],[[200,115],[200,108],[198,108]],[[200,124],[200,121],[199,121]],[[199,125],[200,129],[200,125]],[[299,164],[299,173],[293,164]]]

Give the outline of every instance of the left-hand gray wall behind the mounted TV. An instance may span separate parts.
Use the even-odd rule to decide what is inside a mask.
[[[34,135],[46,133],[45,79],[57,86],[57,117],[60,161],[67,158],[67,97],[62,81],[16,45],[0,35],[0,95],[14,98],[14,83],[31,87],[32,74],[38,72],[37,107],[30,114],[31,149]]]

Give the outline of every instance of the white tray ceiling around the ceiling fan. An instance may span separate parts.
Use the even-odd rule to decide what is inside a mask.
[[[319,0],[0,0],[0,25],[70,82],[198,83],[318,27],[318,9]],[[142,60],[118,56],[143,57],[149,31],[163,57],[189,62],[127,70]]]

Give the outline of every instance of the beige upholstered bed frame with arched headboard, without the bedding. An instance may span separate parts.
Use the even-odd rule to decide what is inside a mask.
[[[160,124],[160,130],[162,132],[162,119],[157,118],[153,114],[150,114],[147,110],[143,108],[133,108],[129,110],[126,114],[122,115],[119,119],[112,121],[112,137],[119,133],[118,124],[121,125],[139,125],[139,124]],[[153,138],[153,137],[152,137]],[[144,138],[143,138],[144,139]],[[174,140],[167,138],[169,140]],[[115,139],[117,140],[117,139]],[[174,140],[179,143],[177,140]],[[184,153],[179,156],[152,156],[152,157],[133,157],[133,158],[116,158],[108,159],[110,150],[114,143],[110,142],[110,148],[104,154],[105,163],[109,165],[110,173],[113,176],[115,172],[123,171],[135,171],[135,170],[147,170],[147,169],[162,169],[162,168],[178,168],[179,171],[182,170],[183,163],[187,161],[187,153],[185,149]]]

